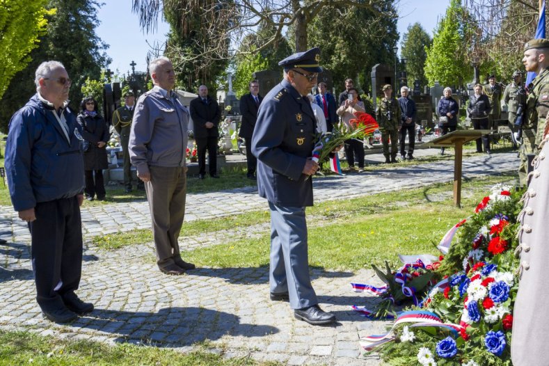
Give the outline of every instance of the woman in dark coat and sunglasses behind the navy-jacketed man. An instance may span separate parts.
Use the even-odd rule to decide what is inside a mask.
[[[84,98],[80,104],[80,109],[77,121],[85,140],[83,150],[86,173],[86,189],[84,189],[86,200],[93,200],[96,194],[97,200],[104,200],[103,169],[109,167],[106,161],[106,141],[109,141],[109,126],[97,113],[97,102],[93,97]]]

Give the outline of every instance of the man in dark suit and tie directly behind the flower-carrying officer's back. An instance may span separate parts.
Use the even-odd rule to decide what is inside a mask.
[[[260,108],[263,97],[260,93],[260,83],[257,80],[250,81],[249,94],[244,94],[240,98],[240,113],[242,113],[242,124],[238,136],[244,138],[246,142],[246,161],[248,162],[248,178],[255,180],[255,167],[257,159],[252,154],[252,135],[257,121],[257,109]]]

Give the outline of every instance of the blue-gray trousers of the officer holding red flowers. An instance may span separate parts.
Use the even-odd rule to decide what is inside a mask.
[[[289,293],[292,309],[317,305],[309,276],[305,207],[283,207],[269,202],[271,209],[271,292]]]

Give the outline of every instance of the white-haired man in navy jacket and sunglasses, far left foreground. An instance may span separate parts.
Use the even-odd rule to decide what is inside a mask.
[[[82,138],[67,108],[65,67],[40,64],[35,84],[38,93],[10,120],[6,173],[13,208],[31,231],[36,301],[47,319],[65,323],[93,310],[74,294],[82,269]]]

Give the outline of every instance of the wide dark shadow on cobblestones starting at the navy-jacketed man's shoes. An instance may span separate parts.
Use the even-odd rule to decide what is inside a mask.
[[[185,347],[223,335],[262,337],[278,333],[274,326],[242,324],[240,317],[207,308],[163,308],[158,312],[95,309],[71,324],[119,335],[115,342],[155,347]]]

